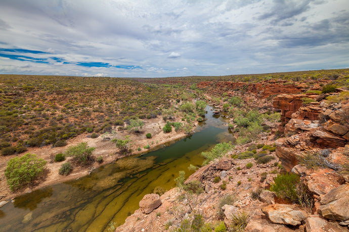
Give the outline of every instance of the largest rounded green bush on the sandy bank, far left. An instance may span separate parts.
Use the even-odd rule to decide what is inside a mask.
[[[43,173],[45,165],[45,160],[36,158],[36,155],[31,153],[10,159],[5,170],[5,177],[11,191],[34,182]]]

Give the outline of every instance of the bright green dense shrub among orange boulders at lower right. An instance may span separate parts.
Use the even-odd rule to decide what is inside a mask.
[[[278,197],[288,199],[292,203],[297,202],[298,194],[296,186],[299,184],[299,176],[294,173],[279,174],[274,179],[270,191],[275,192]]]

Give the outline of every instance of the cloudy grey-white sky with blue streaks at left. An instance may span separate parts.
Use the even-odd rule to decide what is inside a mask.
[[[1,0],[0,74],[349,68],[348,0]]]

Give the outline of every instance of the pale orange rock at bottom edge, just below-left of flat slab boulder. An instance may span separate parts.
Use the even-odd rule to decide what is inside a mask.
[[[252,211],[247,219],[246,232],[291,232],[283,224],[275,224],[268,220],[268,217],[259,209]]]

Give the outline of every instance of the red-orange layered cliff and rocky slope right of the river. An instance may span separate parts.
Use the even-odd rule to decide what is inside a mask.
[[[252,92],[249,94],[260,94],[260,98],[284,89],[280,83],[274,83],[273,91],[272,87],[268,87],[270,91],[261,89],[261,83],[201,82],[198,86],[213,84],[217,94],[233,94],[230,90],[246,88]],[[269,145],[275,142],[276,152],[268,153],[275,157],[274,160],[258,164],[253,158],[231,159],[231,156],[247,151],[251,144],[235,146],[229,158],[200,168],[187,180],[186,183],[199,181],[203,193],[183,199],[183,190],[172,189],[160,197],[160,207],[149,214],[136,210],[117,231],[170,231],[179,228],[184,220],[192,221],[195,213],[202,214],[205,222],[224,220],[231,228],[233,215],[241,212],[249,214],[245,231],[349,231],[349,170],[343,168],[349,164],[349,102],[328,104],[318,95],[298,94],[300,89],[293,86],[288,88],[291,94],[283,93],[273,99],[273,106],[280,109],[283,116],[279,127],[284,129],[284,137],[275,140],[275,136],[270,135],[254,142]],[[303,105],[300,99],[304,96],[318,101]],[[259,106],[265,103],[264,100],[260,99]],[[258,104],[258,100],[253,104]],[[301,157],[309,154],[317,154],[324,163],[314,167],[300,164]],[[281,161],[283,169],[274,164],[277,161]],[[247,163],[252,163],[252,167],[248,168]],[[312,208],[290,202],[284,204],[268,191],[277,173],[283,171],[300,175],[301,182],[313,196]],[[215,177],[220,177],[218,183],[215,183]],[[224,183],[226,188],[222,189]],[[263,189],[259,198],[252,198],[251,193],[258,189]],[[234,196],[235,202],[219,206],[220,199],[227,195]],[[223,215],[219,216],[219,210]]]

